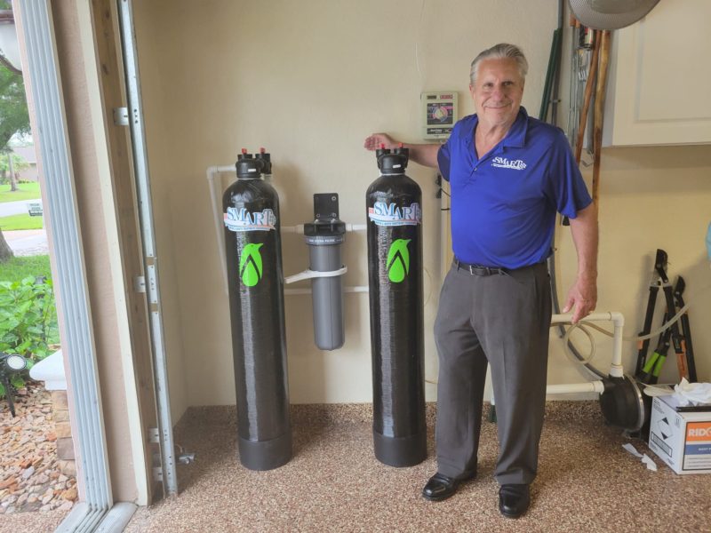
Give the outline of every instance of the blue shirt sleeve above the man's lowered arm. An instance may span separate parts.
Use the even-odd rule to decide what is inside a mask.
[[[556,131],[550,148],[544,194],[569,219],[575,219],[578,211],[593,202],[562,130]]]

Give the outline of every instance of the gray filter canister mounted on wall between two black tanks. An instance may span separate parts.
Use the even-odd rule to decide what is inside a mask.
[[[338,195],[314,195],[312,224],[304,224],[309,269],[333,273],[343,267],[341,247],[346,224],[339,220]],[[314,310],[314,342],[321,350],[336,350],[345,341],[343,325],[343,282],[341,275],[311,278]]]

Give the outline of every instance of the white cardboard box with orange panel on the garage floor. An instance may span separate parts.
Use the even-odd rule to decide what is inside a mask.
[[[650,449],[675,473],[711,473],[711,410],[677,412],[673,395],[651,402]]]

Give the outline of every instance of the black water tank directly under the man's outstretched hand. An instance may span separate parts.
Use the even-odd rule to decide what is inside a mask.
[[[391,466],[427,456],[422,299],[422,193],[405,176],[406,148],[377,151],[366,193],[371,300],[373,441]]]

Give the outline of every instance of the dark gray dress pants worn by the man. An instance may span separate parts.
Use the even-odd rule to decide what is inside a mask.
[[[476,472],[487,363],[496,398],[500,484],[531,483],[546,402],[550,280],[545,263],[475,275],[452,265],[435,321],[437,471]]]

